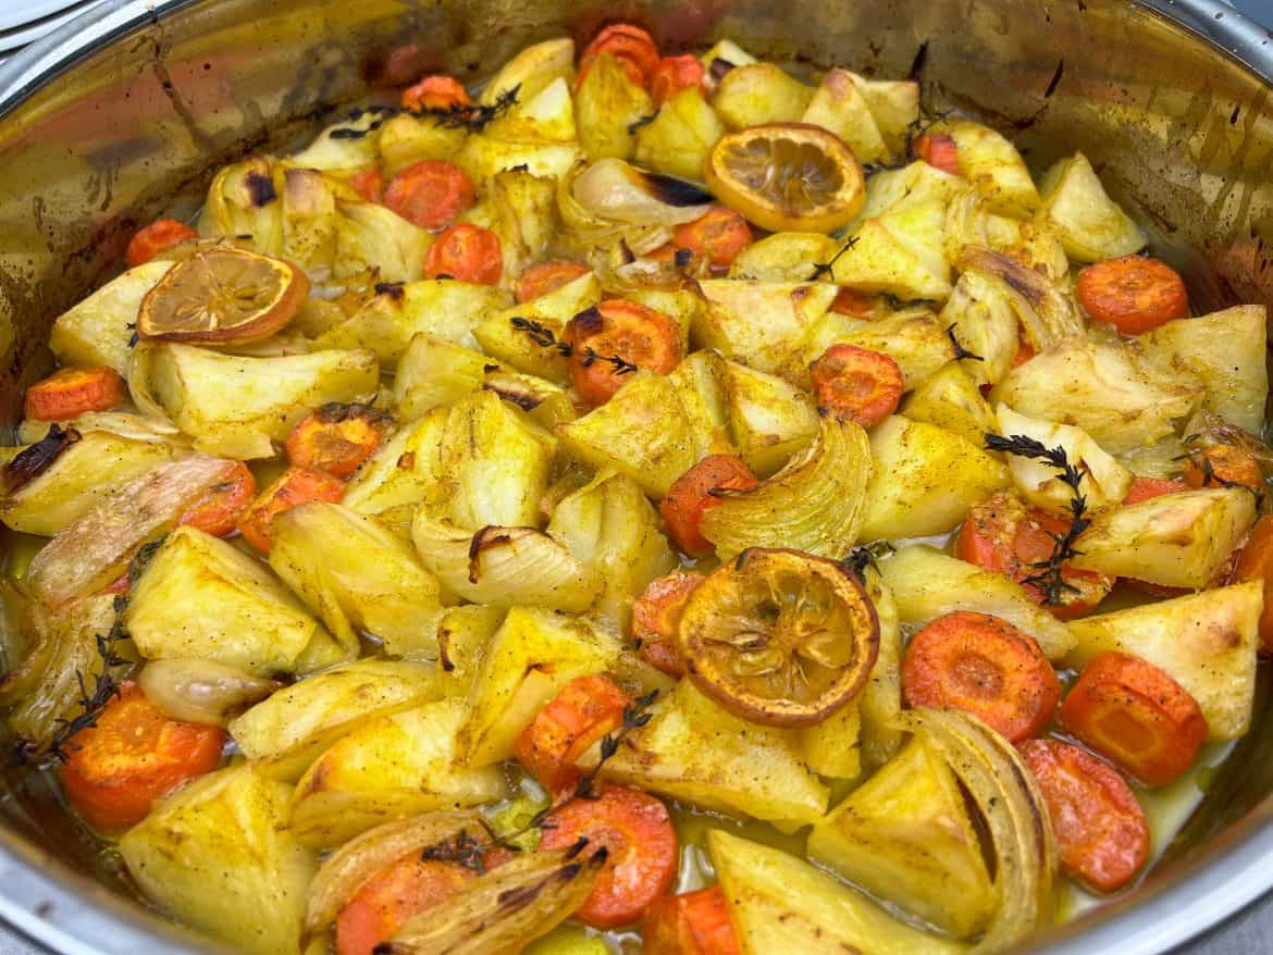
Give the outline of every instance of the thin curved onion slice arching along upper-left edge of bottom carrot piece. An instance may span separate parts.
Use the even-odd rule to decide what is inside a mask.
[[[409,852],[435,845],[462,833],[482,840],[490,838],[480,815],[460,810],[398,819],[350,839],[323,862],[309,885],[306,936],[313,937],[335,922],[345,903],[354,898],[376,874]]]

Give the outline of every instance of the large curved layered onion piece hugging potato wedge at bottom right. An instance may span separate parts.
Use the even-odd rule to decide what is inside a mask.
[[[1048,924],[1058,851],[1039,784],[1012,744],[957,709],[915,709],[906,727],[950,765],[994,849],[999,908],[973,952],[1011,949]]]

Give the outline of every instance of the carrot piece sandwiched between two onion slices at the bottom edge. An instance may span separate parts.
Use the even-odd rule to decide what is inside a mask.
[[[476,877],[454,862],[404,856],[358,890],[336,916],[337,955],[372,955],[406,922],[447,902]]]

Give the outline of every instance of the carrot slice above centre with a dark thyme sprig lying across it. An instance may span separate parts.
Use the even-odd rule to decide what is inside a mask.
[[[570,381],[589,405],[603,405],[638,368],[667,374],[681,363],[681,326],[639,302],[611,298],[579,312],[561,340],[572,349]]]

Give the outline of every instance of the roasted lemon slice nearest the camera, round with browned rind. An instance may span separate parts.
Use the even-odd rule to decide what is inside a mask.
[[[686,672],[729,712],[807,726],[850,703],[880,649],[880,621],[843,567],[752,548],[690,596],[677,632]]]

